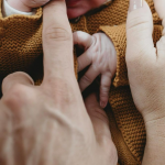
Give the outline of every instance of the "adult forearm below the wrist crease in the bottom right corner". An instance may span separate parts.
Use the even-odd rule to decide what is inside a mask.
[[[146,146],[142,165],[163,165],[165,156],[165,119],[147,122]]]

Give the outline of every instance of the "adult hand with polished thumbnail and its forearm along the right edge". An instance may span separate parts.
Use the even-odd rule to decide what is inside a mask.
[[[165,28],[165,1],[154,0]],[[132,96],[146,128],[143,164],[164,164],[165,155],[165,29],[154,47],[153,19],[145,1],[130,0],[127,65]]]

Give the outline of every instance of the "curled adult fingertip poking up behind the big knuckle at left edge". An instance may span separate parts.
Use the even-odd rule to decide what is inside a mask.
[[[14,85],[34,86],[33,79],[25,73],[10,74],[2,81],[2,94],[6,95]]]

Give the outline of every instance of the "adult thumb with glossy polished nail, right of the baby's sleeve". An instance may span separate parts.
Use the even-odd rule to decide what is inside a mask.
[[[150,52],[154,47],[152,33],[153,18],[148,4],[145,0],[130,0],[127,20],[127,64],[139,59],[141,55],[144,61],[148,55],[151,58]]]

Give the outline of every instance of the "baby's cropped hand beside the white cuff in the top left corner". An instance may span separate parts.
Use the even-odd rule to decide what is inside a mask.
[[[9,6],[23,12],[31,12],[34,8],[42,7],[48,1],[50,0],[7,0]]]

